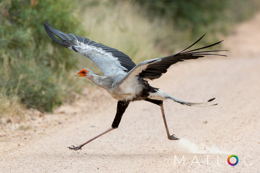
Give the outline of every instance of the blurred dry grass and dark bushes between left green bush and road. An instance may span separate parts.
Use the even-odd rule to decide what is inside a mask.
[[[260,9],[257,0],[81,0],[80,4],[87,16],[83,25],[88,38],[125,52],[135,63],[174,54],[205,33],[196,46],[223,40],[237,23]]]

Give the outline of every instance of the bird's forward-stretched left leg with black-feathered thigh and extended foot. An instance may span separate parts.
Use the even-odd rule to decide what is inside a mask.
[[[80,144],[79,146],[69,146],[68,148],[71,150],[81,150],[81,148],[88,144],[89,142],[91,142],[92,140],[95,140],[96,138],[106,134],[109,131],[112,131],[114,129],[116,129],[121,121],[122,115],[125,113],[126,108],[128,107],[130,101],[129,100],[120,100],[117,102],[117,109],[116,109],[116,116],[115,119],[112,123],[112,127],[110,127],[109,129],[107,129],[106,131],[104,131],[103,133],[100,133],[99,135],[95,136],[94,138],[91,138],[90,140],[88,140],[87,142]]]

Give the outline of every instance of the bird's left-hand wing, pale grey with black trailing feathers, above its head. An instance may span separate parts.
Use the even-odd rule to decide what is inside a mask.
[[[53,29],[46,22],[44,22],[44,28],[52,40],[88,57],[101,69],[104,75],[126,74],[135,67],[135,63],[129,56],[114,48],[75,34],[65,34],[62,31]],[[58,40],[55,35],[61,40]]]

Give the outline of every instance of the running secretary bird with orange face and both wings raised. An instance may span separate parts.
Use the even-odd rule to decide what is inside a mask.
[[[216,104],[208,105],[209,102],[215,98],[209,99],[203,103],[192,103],[172,97],[159,88],[151,86],[146,79],[154,80],[161,77],[162,74],[167,72],[167,69],[172,65],[180,61],[187,59],[198,59],[205,55],[219,55],[212,52],[220,52],[226,50],[209,50],[209,51],[198,51],[201,49],[215,46],[220,42],[205,46],[202,48],[189,50],[194,44],[199,42],[203,37],[200,37],[194,44],[184,49],[183,51],[170,55],[163,58],[150,59],[142,61],[135,65],[135,63],[123,52],[117,49],[110,48],[100,43],[96,43],[85,37],[80,37],[75,34],[65,34],[57,29],[53,29],[48,23],[44,22],[44,28],[47,34],[58,44],[83,54],[85,57],[93,61],[103,72],[104,76],[95,74],[90,69],[80,69],[75,78],[85,78],[93,82],[96,86],[105,89],[111,97],[118,100],[116,116],[112,123],[112,126],[88,140],[87,142],[79,146],[68,147],[71,150],[81,150],[81,148],[91,142],[92,140],[104,135],[105,133],[118,128],[121,121],[122,115],[131,101],[145,100],[153,104],[157,104],[161,107],[161,113],[164,120],[167,136],[169,140],[179,140],[175,135],[170,135],[168,126],[165,119],[163,101],[172,100],[180,104],[187,106],[211,106]],[[60,38],[60,40],[58,38]]]

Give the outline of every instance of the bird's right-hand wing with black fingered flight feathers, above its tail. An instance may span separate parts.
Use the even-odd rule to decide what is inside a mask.
[[[204,34],[205,35],[205,34]],[[197,40],[194,44],[199,42],[203,37],[200,37],[199,40]],[[223,40],[222,40],[223,41]],[[222,42],[220,41],[220,42]],[[146,78],[146,79],[157,79],[161,77],[163,73],[167,72],[167,69],[172,65],[180,61],[184,61],[187,59],[198,59],[200,57],[205,57],[205,55],[219,55],[219,56],[225,56],[222,54],[214,54],[212,52],[220,52],[220,51],[227,51],[227,50],[209,50],[209,51],[197,51],[205,48],[209,48],[211,46],[215,46],[216,44],[219,44],[220,42],[211,44],[209,46],[205,46],[202,48],[194,49],[185,51],[188,48],[192,47],[194,44],[189,46],[188,48],[184,49],[183,51],[170,55],[163,58],[157,58],[157,59],[150,59],[146,61],[142,61],[138,63],[133,69],[131,69],[130,72],[128,72],[124,78],[119,83],[126,82],[124,80],[134,78],[135,76],[139,76],[140,78]]]

